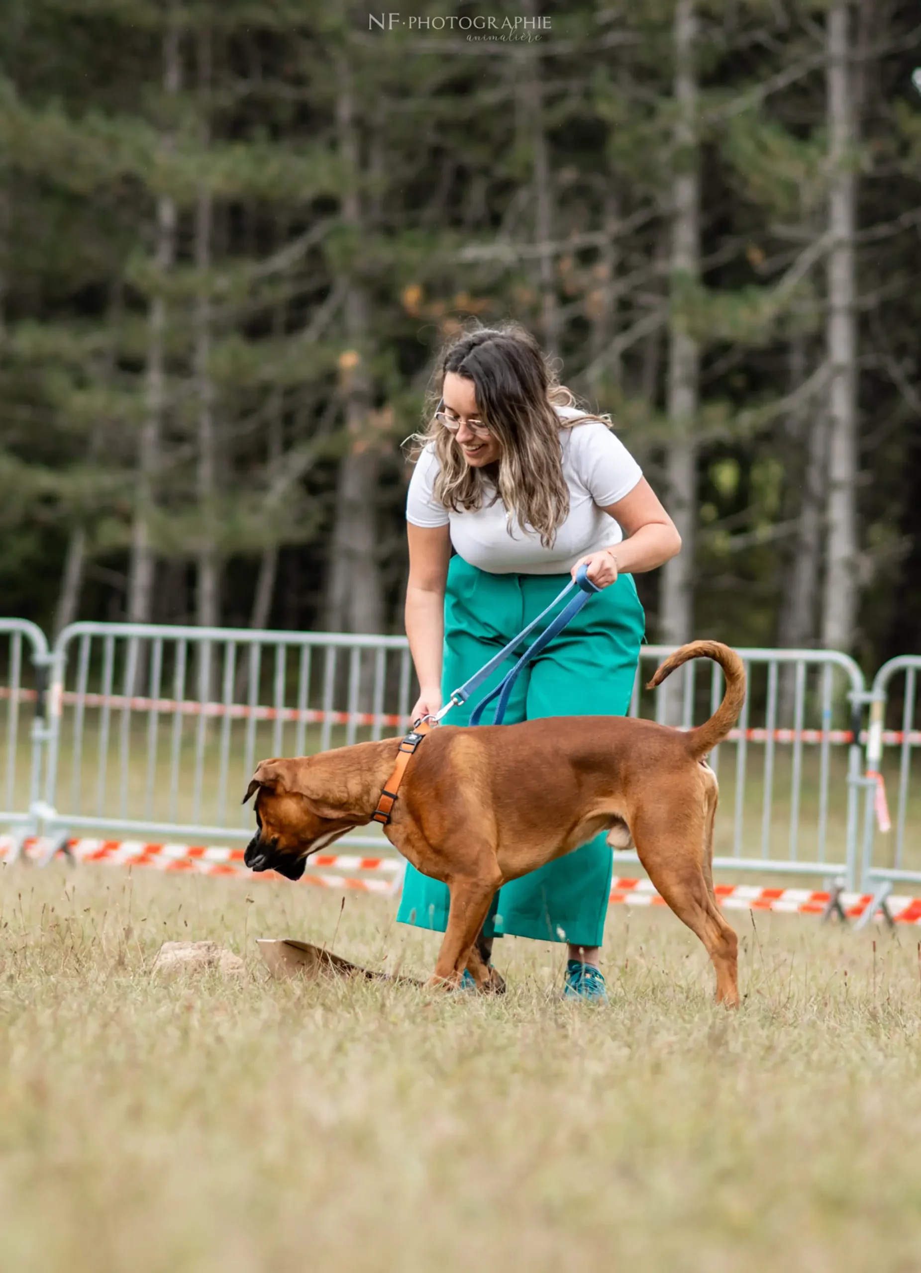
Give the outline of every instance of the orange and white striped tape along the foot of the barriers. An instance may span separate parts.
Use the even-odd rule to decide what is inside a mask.
[[[13,847],[11,836],[0,836],[0,861]],[[41,858],[51,847],[47,839],[29,839],[23,845],[28,858]],[[280,880],[274,871],[251,872],[243,864],[243,849],[201,844],[148,844],[143,840],[70,840],[68,848],[78,862],[107,862],[113,866],[153,867],[169,873],[242,876],[248,880]],[[404,862],[394,857],[359,857],[349,853],[317,853],[308,862],[301,883],[321,889],[377,892],[392,896],[403,881]],[[326,875],[348,871],[349,876]],[[363,872],[358,876],[357,872]],[[820,915],[829,900],[827,892],[810,889],[769,889],[746,883],[718,883],[717,900],[726,910],[773,910],[795,915]],[[665,906],[650,880],[611,881],[611,903],[628,906]],[[871,901],[870,894],[842,892],[845,913],[857,919]],[[921,897],[889,896],[885,905],[898,924],[921,924]]]

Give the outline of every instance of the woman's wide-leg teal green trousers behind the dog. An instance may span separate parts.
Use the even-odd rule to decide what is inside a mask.
[[[445,701],[536,619],[568,582],[568,574],[488,574],[460,556],[451,558],[445,592]],[[643,630],[643,608],[633,577],[620,575],[592,596],[522,670],[506,723],[558,715],[625,715]],[[506,659],[466,703],[451,709],[445,723],[468,724],[476,703],[511,666],[511,658]],[[492,705],[487,708],[485,724],[492,721]],[[589,722],[586,728],[591,729]],[[483,933],[600,946],[610,882],[611,852],[601,834],[573,853],[503,885]],[[445,932],[447,913],[447,885],[408,864],[397,920]]]

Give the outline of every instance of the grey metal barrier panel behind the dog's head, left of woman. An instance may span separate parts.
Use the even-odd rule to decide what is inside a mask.
[[[409,723],[401,636],[78,622],[54,656],[52,830],[246,841],[259,760]]]

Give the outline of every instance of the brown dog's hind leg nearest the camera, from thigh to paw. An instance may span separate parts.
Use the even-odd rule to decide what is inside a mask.
[[[688,810],[692,812],[688,812]],[[679,817],[675,810],[682,810]],[[698,812],[699,811],[699,812]],[[674,913],[703,942],[716,970],[716,1001],[739,1006],[735,931],[716,904],[710,876],[710,810],[701,808],[699,792],[652,802],[632,824],[637,853],[646,872]],[[706,863],[706,864],[704,864]]]

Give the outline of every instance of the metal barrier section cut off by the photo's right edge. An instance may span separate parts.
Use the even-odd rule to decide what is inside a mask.
[[[875,799],[867,798],[864,810],[864,844],[861,863],[861,887],[875,890],[870,911],[883,905],[894,883],[921,883],[921,801],[917,788],[912,796],[912,768],[917,768],[916,756],[921,745],[921,722],[917,721],[917,673],[921,671],[921,656],[901,654],[889,659],[876,672],[870,699],[870,729],[866,745],[866,784]],[[902,693],[893,693],[893,682],[902,677]],[[889,726],[889,728],[887,728]],[[893,763],[885,764],[884,747],[894,750]],[[887,773],[888,770],[888,773]],[[889,822],[889,801],[887,799],[887,778],[889,787],[896,787],[894,826]],[[882,857],[880,845],[875,840],[876,827],[892,829],[894,835],[888,841],[887,861]]]

